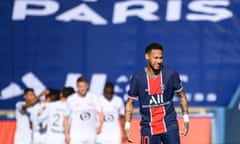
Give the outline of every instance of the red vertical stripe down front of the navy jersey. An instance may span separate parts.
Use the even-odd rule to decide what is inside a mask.
[[[148,76],[148,89],[149,95],[163,94],[163,91],[160,89],[162,85],[162,75],[160,74],[156,78]],[[164,121],[165,107],[158,106],[150,108],[150,117],[151,117],[151,131],[152,134],[160,134],[166,132],[166,125]]]

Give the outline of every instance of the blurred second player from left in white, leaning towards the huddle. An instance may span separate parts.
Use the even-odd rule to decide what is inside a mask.
[[[30,125],[33,130],[33,144],[45,144],[46,132],[47,132],[47,122],[38,121],[38,116],[46,108],[46,104],[49,101],[55,101],[59,99],[60,91],[56,89],[47,89],[43,91],[40,96],[45,96],[45,99],[36,103],[33,107],[29,109],[30,113]],[[39,97],[40,98],[40,97]]]

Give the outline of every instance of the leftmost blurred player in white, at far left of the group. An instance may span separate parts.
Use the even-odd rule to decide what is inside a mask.
[[[16,131],[14,144],[32,144],[32,130],[30,128],[30,113],[31,108],[37,101],[32,88],[24,90],[24,101],[16,103]]]

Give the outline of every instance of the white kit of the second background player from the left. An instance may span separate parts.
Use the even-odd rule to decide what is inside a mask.
[[[45,144],[47,123],[38,121],[38,115],[43,112],[45,105],[37,103],[29,109],[30,121],[33,127],[33,144]]]

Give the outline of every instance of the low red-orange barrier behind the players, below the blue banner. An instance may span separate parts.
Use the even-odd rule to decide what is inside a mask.
[[[140,127],[139,116],[135,116],[131,124],[132,138],[135,144],[139,144]],[[183,120],[178,117],[180,132],[182,131]],[[182,144],[211,144],[212,142],[212,115],[191,114],[190,131],[186,137],[181,137]],[[16,128],[15,120],[0,120],[0,144],[13,144]],[[127,144],[126,142],[124,144]]]

